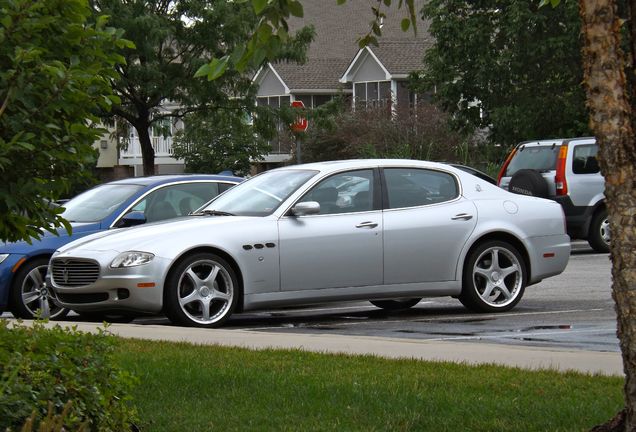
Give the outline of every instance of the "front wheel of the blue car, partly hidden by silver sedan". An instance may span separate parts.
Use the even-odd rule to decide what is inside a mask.
[[[16,318],[62,319],[68,314],[46,286],[49,258],[36,258],[19,268],[11,283],[9,310]]]

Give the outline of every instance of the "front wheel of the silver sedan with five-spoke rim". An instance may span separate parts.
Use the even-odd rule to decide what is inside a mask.
[[[208,281],[213,274],[214,279]],[[218,255],[196,253],[170,271],[164,287],[164,311],[175,324],[214,328],[232,315],[239,296],[234,269]]]

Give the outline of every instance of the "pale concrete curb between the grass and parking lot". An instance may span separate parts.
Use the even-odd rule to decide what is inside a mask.
[[[48,326],[77,327],[95,332],[102,324],[56,321]],[[246,330],[201,329],[160,325],[112,324],[109,331],[125,338],[222,345],[249,349],[299,349],[319,353],[374,355],[449,361],[463,364],[497,364],[523,369],[577,371],[600,375],[623,375],[621,354],[510,346],[482,342],[445,342],[372,336],[281,334]]]

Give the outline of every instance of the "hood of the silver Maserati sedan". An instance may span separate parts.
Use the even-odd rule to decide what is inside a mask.
[[[169,242],[170,238],[196,236],[203,230],[209,231],[217,227],[226,229],[227,225],[240,225],[253,220],[253,217],[248,216],[188,216],[138,227],[95,233],[62,246],[58,252],[70,252],[73,255],[81,254],[84,250],[93,252],[124,252],[129,250],[152,252],[158,248],[159,243],[165,245],[165,242]]]

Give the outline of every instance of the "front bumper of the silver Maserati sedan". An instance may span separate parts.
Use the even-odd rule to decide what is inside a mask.
[[[163,308],[163,285],[170,261],[155,257],[150,263],[127,268],[111,268],[116,256],[104,259],[103,252],[81,258],[64,256],[65,260],[90,260],[99,265],[99,276],[93,283],[64,286],[51,277],[51,287],[59,303],[77,312],[126,312],[156,314]],[[56,259],[57,257],[53,258]],[[51,267],[49,267],[49,274]]]

